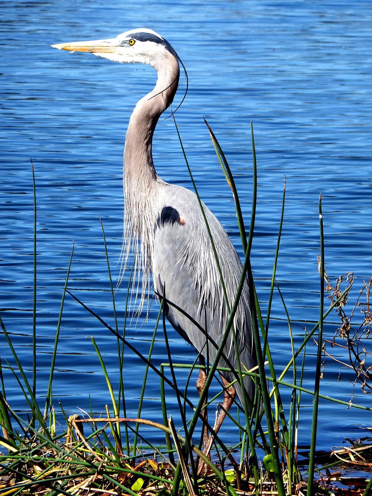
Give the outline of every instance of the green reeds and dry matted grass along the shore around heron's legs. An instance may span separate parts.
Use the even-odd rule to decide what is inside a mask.
[[[175,121],[176,124],[176,121]],[[341,494],[340,484],[348,486],[348,494],[359,494],[367,496],[372,487],[372,478],[348,478],[341,477],[339,470],[331,472],[339,467],[350,465],[358,470],[370,470],[372,467],[372,437],[366,436],[363,439],[353,441],[346,439],[349,447],[333,448],[329,453],[319,454],[316,451],[316,424],[319,398],[330,402],[337,402],[346,405],[348,408],[359,408],[372,411],[368,408],[353,403],[352,399],[342,401],[319,393],[319,383],[325,367],[325,357],[336,360],[327,351],[334,346],[342,346],[348,350],[350,363],[343,363],[345,367],[355,372],[354,385],[359,384],[362,391],[367,393],[372,389],[372,367],[370,363],[371,353],[366,349],[363,340],[369,337],[372,325],[372,314],[370,298],[372,296],[372,277],[364,282],[359,297],[350,314],[345,313],[347,297],[354,282],[352,273],[340,276],[334,286],[324,270],[324,241],[323,241],[323,217],[321,209],[321,196],[319,197],[319,239],[320,255],[318,257],[318,268],[320,276],[319,288],[319,317],[310,331],[305,330],[301,346],[296,350],[293,337],[291,320],[288,315],[285,301],[280,292],[280,288],[275,280],[276,264],[279,254],[280,236],[284,217],[285,205],[285,181],[283,188],[283,202],[281,211],[281,221],[278,233],[277,248],[273,263],[273,275],[270,290],[270,297],[266,315],[258,303],[257,294],[254,288],[253,276],[250,268],[249,254],[254,230],[257,173],[256,158],[254,149],[253,127],[251,124],[251,141],[253,157],[253,201],[252,214],[248,238],[244,225],[244,219],[239,203],[238,193],[235,187],[234,178],[231,174],[228,162],[223,151],[208,126],[212,143],[215,148],[218,160],[224,172],[225,178],[232,189],[238,226],[244,252],[244,265],[241,277],[241,284],[234,302],[228,302],[230,315],[218,349],[217,357],[213,364],[208,364],[205,368],[207,381],[200,399],[194,405],[187,397],[187,386],[194,370],[201,366],[197,356],[193,365],[173,363],[168,345],[167,329],[165,324],[165,314],[162,311],[163,305],[177,306],[177,302],[170,302],[166,295],[158,295],[160,299],[160,310],[153,332],[152,341],[148,356],[143,356],[133,344],[125,339],[126,316],[128,314],[127,305],[129,297],[129,287],[132,273],[130,274],[128,288],[126,291],[124,332],[120,327],[116,315],[115,294],[111,279],[109,259],[105,240],[104,228],[102,226],[103,239],[105,244],[108,275],[113,301],[113,313],[115,318],[115,328],[108,325],[94,310],[88,308],[73,293],[68,290],[68,277],[73,258],[73,247],[67,268],[67,275],[62,292],[61,310],[59,314],[55,345],[52,355],[50,378],[48,390],[45,395],[44,411],[41,410],[40,401],[37,402],[36,395],[36,193],[35,177],[34,185],[34,296],[33,296],[33,377],[32,383],[27,379],[22,365],[12,346],[10,337],[6,332],[6,324],[1,320],[1,328],[4,339],[9,347],[15,362],[12,367],[7,366],[13,372],[16,381],[24,395],[26,401],[26,415],[18,415],[6,399],[7,385],[4,384],[1,361],[0,361],[0,422],[2,435],[0,435],[0,496],[1,495],[82,495],[82,496],[109,496],[109,495],[143,495],[143,496],[177,496],[187,494],[193,495],[315,495],[315,494]],[[178,132],[177,124],[176,129]],[[178,134],[179,135],[179,134]],[[179,135],[181,146],[182,141]],[[182,146],[186,165],[192,180],[185,150]],[[192,180],[193,183],[193,180]],[[196,191],[195,193],[199,199]],[[200,208],[202,203],[199,199]],[[206,221],[207,222],[207,221]],[[213,240],[211,239],[212,245]],[[215,256],[217,256],[215,254]],[[134,262],[133,262],[134,267]],[[132,272],[133,272],[132,267]],[[251,371],[234,369],[220,369],[217,367],[223,346],[228,334],[233,332],[232,324],[234,314],[239,302],[240,292],[244,281],[248,278],[249,292],[251,295],[253,334],[257,355],[257,367]],[[345,281],[344,281],[345,279]],[[346,282],[345,289],[341,290],[341,285]],[[283,303],[284,314],[288,320],[290,333],[290,346],[292,359],[283,371],[274,369],[270,347],[269,347],[269,324],[270,310],[274,289],[278,291]],[[62,320],[63,303],[66,293],[70,295],[78,304],[96,317],[101,324],[106,327],[115,337],[118,348],[119,359],[119,390],[114,392],[104,360],[100,350],[91,337],[93,347],[100,360],[103,373],[105,375],[108,390],[110,393],[110,407],[106,405],[107,417],[94,417],[92,409],[86,418],[78,415],[71,415],[67,418],[63,407],[60,404],[61,413],[56,413],[53,406],[52,381],[55,360],[58,349],[58,340]],[[324,294],[330,300],[330,307],[324,310]],[[366,295],[367,300],[363,298]],[[360,301],[360,300],[363,301]],[[361,307],[364,321],[352,327],[352,318],[357,307]],[[337,329],[332,341],[323,339],[323,321],[327,315],[336,310],[340,317],[340,327]],[[317,318],[317,317],[316,317]],[[357,319],[357,317],[355,317]],[[356,330],[355,330],[356,329]],[[202,330],[202,329],[201,329]],[[203,330],[202,330],[203,331]],[[151,354],[157,332],[164,333],[167,345],[168,357],[159,368],[151,363]],[[205,332],[205,331],[204,331]],[[336,342],[337,339],[337,342]],[[339,339],[342,341],[338,342]],[[303,387],[304,368],[306,364],[307,343],[315,343],[317,349],[315,382],[313,389]],[[235,338],[235,346],[236,338]],[[144,378],[138,404],[137,418],[126,417],[125,409],[125,388],[123,375],[124,367],[124,347],[129,348],[144,365]],[[4,364],[2,364],[4,365]],[[161,408],[163,424],[152,422],[141,417],[141,409],[146,389],[146,379],[149,370],[159,376],[161,390]],[[177,385],[177,371],[179,369],[188,370],[188,378],[185,390],[181,390]],[[229,370],[234,373],[235,380],[243,384],[244,375],[250,375],[255,382],[255,396],[253,402],[249,397],[244,397],[242,405],[238,407],[238,417],[234,418],[231,413],[228,417],[235,424],[236,444],[227,446],[214,435],[213,462],[205,457],[201,451],[202,436],[200,438],[194,434],[196,426],[203,421],[203,409],[215,402],[220,393],[213,397],[208,397],[208,388],[218,370]],[[289,378],[284,380],[286,372],[292,370],[292,382]],[[169,373],[171,372],[171,379]],[[182,419],[182,425],[174,425],[172,417],[167,414],[167,398],[165,394],[165,384],[167,390],[171,388],[172,394],[176,396]],[[289,408],[283,405],[280,391],[289,388],[291,403]],[[244,387],[242,388],[244,391]],[[306,446],[299,446],[297,443],[298,430],[301,429],[301,397],[303,394],[313,396],[313,412],[311,438]],[[169,393],[167,393],[169,394]],[[206,405],[203,406],[204,399]],[[44,400],[43,400],[44,401]],[[187,405],[187,411],[186,411]],[[189,408],[190,407],[190,408]],[[191,416],[189,412],[192,412]],[[30,412],[30,413],[28,413]],[[186,415],[187,413],[187,415]],[[65,421],[65,429],[57,429],[58,422],[56,416],[62,416]],[[25,420],[27,416],[27,420]],[[164,445],[154,446],[150,438],[144,436],[140,431],[141,425],[151,426],[153,429],[162,431],[164,435]],[[213,426],[208,425],[208,429],[213,433]],[[238,442],[239,440],[239,442]],[[130,442],[129,442],[130,441]],[[364,442],[367,441],[367,442]],[[298,459],[301,455],[302,459]],[[202,459],[207,466],[206,473],[197,475],[199,459]],[[217,461],[216,461],[217,460]],[[262,462],[260,461],[262,460]],[[344,493],[343,493],[344,494]]]

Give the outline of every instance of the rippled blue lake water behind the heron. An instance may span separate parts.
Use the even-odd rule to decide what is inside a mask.
[[[366,1],[203,1],[135,4],[107,0],[0,1],[1,124],[0,311],[28,376],[32,375],[33,194],[37,195],[37,387],[46,392],[62,288],[75,242],[68,287],[114,325],[107,264],[99,222],[106,234],[111,273],[120,274],[124,198],[124,136],[135,103],[152,89],[149,66],[121,65],[90,54],[59,52],[50,45],[111,38],[135,27],[164,36],[185,63],[189,90],[176,114],[198,191],[240,249],[231,190],[226,184],[203,117],[229,161],[249,225],[252,195],[250,119],[253,121],[258,198],[251,263],[263,313],[272,276],[283,181],[286,205],[276,279],[300,345],[305,321],[318,319],[318,198],[322,194],[326,272],[357,276],[349,313],[363,279],[372,272],[372,4]],[[181,78],[176,101],[185,91]],[[164,117],[169,113],[165,113]],[[153,157],[164,180],[192,188],[175,126],[161,118]],[[242,250],[240,249],[240,254]],[[128,273],[116,293],[124,321]],[[327,301],[325,305],[328,305]],[[127,338],[147,355],[158,304],[149,318],[133,319]],[[359,308],[355,324],[362,322]],[[332,313],[329,322],[338,322]],[[359,319],[359,320],[358,320]],[[325,326],[332,339],[337,325]],[[274,293],[269,344],[280,373],[291,358],[288,324]],[[195,352],[169,328],[174,362],[192,363]],[[92,315],[66,296],[53,382],[54,404],[78,413],[104,412],[109,391],[89,336],[94,336],[118,387],[117,343]],[[366,340],[366,346],[370,340]],[[22,393],[5,359],[7,399],[24,410]],[[327,351],[330,350],[329,344]],[[315,348],[308,346],[305,387],[313,387]],[[332,354],[346,357],[340,349]],[[152,361],[167,362],[161,329]],[[347,359],[347,357],[346,357]],[[299,362],[301,365],[301,361]],[[327,359],[321,392],[349,401],[353,374]],[[144,365],[125,350],[125,400],[136,417]],[[180,384],[187,372],[179,372]],[[194,379],[196,380],[195,373]],[[286,378],[290,379],[292,372]],[[193,387],[194,379],[191,379]],[[284,392],[286,401],[288,394]],[[190,393],[192,398],[192,394]],[[196,392],[194,399],[196,401]],[[354,403],[372,396],[354,388]],[[300,443],[310,439],[311,398],[303,395]],[[161,421],[159,380],[149,373],[143,418]],[[168,413],[177,416],[169,396]],[[188,412],[190,413],[190,412]],[[211,412],[212,416],[213,413]],[[106,415],[106,413],[104,413]],[[302,420],[302,422],[301,422]],[[320,400],[317,447],[368,434],[371,412]],[[238,434],[226,423],[223,438]],[[163,443],[158,433],[153,441]]]

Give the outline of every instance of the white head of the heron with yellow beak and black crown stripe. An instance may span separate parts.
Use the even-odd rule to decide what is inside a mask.
[[[115,62],[146,63],[158,69],[170,55],[178,56],[171,45],[160,35],[146,28],[137,28],[120,34],[117,38],[94,41],[77,41],[52,45],[59,50],[90,52]]]

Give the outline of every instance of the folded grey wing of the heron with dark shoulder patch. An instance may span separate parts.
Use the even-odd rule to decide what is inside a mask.
[[[242,273],[242,263],[220,222],[204,205],[204,212],[217,250],[230,306]],[[215,256],[193,192],[181,186],[167,186],[166,204],[154,227],[152,272],[158,293],[182,308],[204,329],[169,306],[167,317],[175,329],[213,362],[224,333],[227,307]],[[251,317],[248,285],[245,284],[235,319],[240,361],[254,366],[252,357]],[[209,339],[206,339],[206,333]],[[215,343],[215,345],[213,344]],[[224,349],[226,357],[237,366],[232,333]],[[220,360],[220,366],[226,366]],[[244,370],[244,369],[243,369]]]

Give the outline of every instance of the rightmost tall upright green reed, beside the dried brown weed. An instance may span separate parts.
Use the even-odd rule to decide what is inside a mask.
[[[320,302],[319,302],[319,333],[318,333],[318,352],[316,356],[314,401],[312,406],[312,424],[311,424],[311,441],[309,456],[309,479],[307,495],[311,496],[312,480],[314,477],[315,465],[315,446],[316,446],[316,426],[318,417],[319,402],[319,383],[320,383],[320,365],[321,349],[323,343],[323,306],[324,306],[324,238],[323,238],[323,216],[321,211],[321,195],[319,196],[319,228],[320,228]]]

